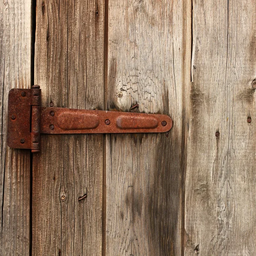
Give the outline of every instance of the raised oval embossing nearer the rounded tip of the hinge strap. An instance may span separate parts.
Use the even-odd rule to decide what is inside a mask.
[[[116,127],[119,129],[154,129],[158,126],[158,120],[154,117],[119,116],[116,119]]]

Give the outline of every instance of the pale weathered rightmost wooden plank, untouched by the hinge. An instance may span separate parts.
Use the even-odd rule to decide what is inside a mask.
[[[255,13],[255,0],[193,0],[186,255],[256,254]]]

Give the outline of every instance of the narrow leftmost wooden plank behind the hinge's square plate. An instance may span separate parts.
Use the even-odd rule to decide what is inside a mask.
[[[30,152],[6,144],[8,92],[29,88],[31,1],[0,3],[0,255],[29,255]]]

